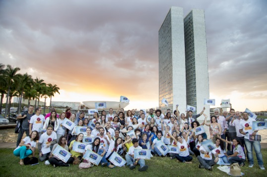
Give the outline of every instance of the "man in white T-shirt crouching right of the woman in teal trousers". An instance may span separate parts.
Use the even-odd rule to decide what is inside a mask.
[[[40,136],[38,142],[39,159],[45,161],[49,158],[53,145],[56,143],[56,133],[53,132],[53,126],[47,126],[47,132]]]

